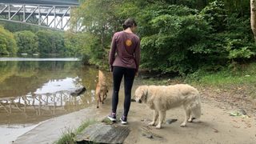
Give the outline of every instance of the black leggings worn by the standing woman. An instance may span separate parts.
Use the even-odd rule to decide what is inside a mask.
[[[112,113],[116,113],[118,107],[118,93],[120,89],[120,84],[122,81],[122,76],[124,76],[124,86],[125,86],[125,102],[123,104],[123,115],[127,117],[130,109],[130,97],[131,89],[134,83],[135,69],[130,69],[126,67],[114,66],[113,68],[113,95],[112,95]]]

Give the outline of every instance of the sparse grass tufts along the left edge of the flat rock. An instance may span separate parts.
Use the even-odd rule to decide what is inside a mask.
[[[77,134],[80,134],[82,130],[85,130],[86,127],[96,123],[95,120],[87,120],[85,122],[82,122],[82,124],[78,127],[77,130],[71,130],[68,129],[65,132],[63,132],[62,137],[58,139],[57,142],[54,142],[54,144],[75,144],[74,138]]]

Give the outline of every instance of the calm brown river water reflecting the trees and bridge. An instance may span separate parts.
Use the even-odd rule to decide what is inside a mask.
[[[97,76],[77,58],[0,58],[0,139],[94,104]],[[70,95],[81,86],[84,94]]]

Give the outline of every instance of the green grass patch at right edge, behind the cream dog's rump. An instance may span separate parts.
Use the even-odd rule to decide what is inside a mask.
[[[242,90],[250,98],[256,98],[256,62],[246,66],[233,66],[218,72],[198,70],[186,77],[186,83],[199,86],[211,86],[230,91]]]

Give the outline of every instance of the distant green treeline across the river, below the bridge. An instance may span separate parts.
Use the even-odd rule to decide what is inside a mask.
[[[70,45],[68,33],[9,22],[0,24],[2,24],[0,56],[19,54],[79,56],[79,52]]]

